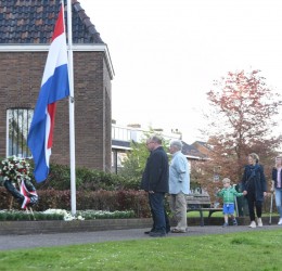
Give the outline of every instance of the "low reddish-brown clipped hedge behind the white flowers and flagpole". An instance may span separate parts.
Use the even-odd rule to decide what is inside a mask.
[[[70,210],[70,191],[57,190],[38,190],[39,202],[33,207],[34,210],[42,211],[47,209]],[[11,194],[0,188],[0,209],[20,209],[21,206]],[[13,198],[13,199],[12,199]],[[12,202],[11,202],[12,201]],[[10,204],[12,205],[10,206]],[[77,210],[133,210],[136,217],[151,217],[148,204],[148,195],[144,191],[77,191],[76,192]]]

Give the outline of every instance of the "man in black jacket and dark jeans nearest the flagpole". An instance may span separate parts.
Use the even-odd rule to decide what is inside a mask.
[[[151,152],[142,176],[141,189],[149,193],[149,204],[153,217],[152,237],[166,236],[167,223],[164,206],[165,194],[168,193],[168,157],[162,146],[162,139],[154,136],[146,141]]]

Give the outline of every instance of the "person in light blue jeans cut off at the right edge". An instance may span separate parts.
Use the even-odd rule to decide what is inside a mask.
[[[282,225],[282,156],[275,158],[275,166],[272,169],[271,192],[275,192],[275,204],[279,212],[278,224]]]

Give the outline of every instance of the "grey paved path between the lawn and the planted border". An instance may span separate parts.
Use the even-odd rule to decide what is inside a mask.
[[[246,231],[267,231],[281,229],[281,225],[264,225],[262,228],[251,229],[246,225],[221,228],[219,225],[189,227],[187,233],[169,233],[167,236],[194,236],[204,234],[221,234],[230,232]],[[102,243],[107,241],[126,240],[146,240],[152,238],[144,234],[149,229],[130,229],[99,232],[75,232],[75,233],[48,233],[48,234],[28,234],[28,235],[0,235],[0,250],[31,248],[31,247],[51,247],[75,244]]]

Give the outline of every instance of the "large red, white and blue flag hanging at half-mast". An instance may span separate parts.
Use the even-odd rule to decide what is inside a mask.
[[[67,47],[64,27],[64,7],[62,3],[27,138],[27,144],[35,162],[34,173],[37,182],[44,181],[49,175],[55,102],[68,95]]]

